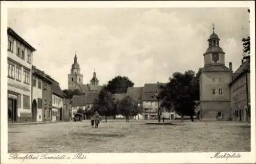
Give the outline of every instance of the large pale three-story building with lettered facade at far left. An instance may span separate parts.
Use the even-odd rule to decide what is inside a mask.
[[[8,34],[8,121],[32,121],[31,69],[36,50],[11,28]]]

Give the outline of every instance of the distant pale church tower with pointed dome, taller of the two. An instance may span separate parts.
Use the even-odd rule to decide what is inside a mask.
[[[80,66],[77,63],[77,57],[75,53],[74,63],[72,64],[70,74],[68,74],[68,86],[70,90],[73,90],[77,84],[82,84],[83,75],[80,73]]]

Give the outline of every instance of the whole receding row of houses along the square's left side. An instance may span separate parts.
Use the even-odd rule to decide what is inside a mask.
[[[28,42],[8,34],[8,122],[70,121],[70,100],[57,81],[33,66]]]

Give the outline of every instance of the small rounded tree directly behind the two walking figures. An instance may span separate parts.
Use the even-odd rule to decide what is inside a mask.
[[[94,100],[93,110],[97,111],[99,115],[105,116],[106,122],[108,116],[113,116],[115,111],[114,97],[108,90],[106,90],[106,86],[103,86],[98,98]]]

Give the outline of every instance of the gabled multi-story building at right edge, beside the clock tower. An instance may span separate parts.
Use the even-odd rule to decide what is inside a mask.
[[[250,61],[242,65],[232,74],[229,84],[230,106],[233,120],[250,120]]]

